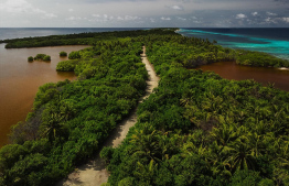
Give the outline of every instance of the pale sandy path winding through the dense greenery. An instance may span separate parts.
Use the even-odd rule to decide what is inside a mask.
[[[146,64],[146,68],[149,74],[149,79],[147,80],[146,95],[139,100],[141,102],[144,98],[149,97],[153,88],[158,87],[159,77],[156,75],[156,72],[152,65],[149,63],[146,56],[146,47],[143,47],[143,54],[141,54],[141,61]],[[130,127],[137,122],[137,109],[135,109],[127,119],[125,119],[117,128],[110,133],[108,140],[105,142],[104,146],[118,146],[122,140],[126,138]],[[99,186],[103,183],[106,183],[108,179],[109,173],[105,168],[105,163],[99,157],[97,157],[85,165],[78,167],[77,171],[71,173],[66,180],[62,180],[56,184],[57,186]]]

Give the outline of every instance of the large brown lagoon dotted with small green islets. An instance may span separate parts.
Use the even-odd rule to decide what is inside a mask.
[[[67,57],[60,57],[65,51],[79,51],[87,46],[55,46],[6,50],[0,44],[0,147],[8,143],[10,127],[24,121],[31,110],[38,88],[45,83],[76,79],[74,73],[57,73],[56,65]],[[28,62],[29,56],[47,54],[52,61]]]

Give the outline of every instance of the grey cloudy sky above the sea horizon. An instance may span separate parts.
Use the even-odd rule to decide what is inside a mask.
[[[0,0],[0,28],[289,28],[289,0]]]

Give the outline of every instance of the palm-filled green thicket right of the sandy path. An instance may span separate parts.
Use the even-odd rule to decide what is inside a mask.
[[[184,68],[206,42],[141,41],[161,80],[122,145],[100,152],[107,185],[289,185],[288,92]]]

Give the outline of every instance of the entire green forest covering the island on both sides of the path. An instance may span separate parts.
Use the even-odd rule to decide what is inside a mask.
[[[259,64],[251,55],[261,53],[240,54],[173,29],[17,39],[7,47],[53,44],[92,47],[56,67],[78,79],[41,86],[33,112],[12,128],[13,143],[0,150],[0,185],[52,185],[95,155],[143,95],[142,45],[161,80],[124,143],[100,152],[107,185],[289,185],[289,94],[190,69]],[[274,63],[266,65],[280,64]]]

